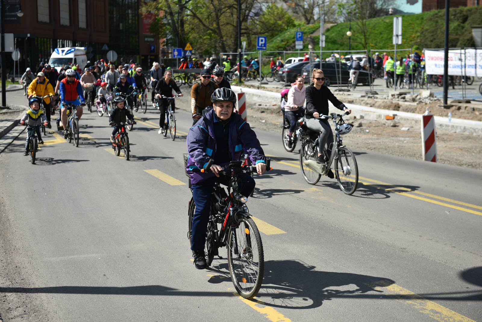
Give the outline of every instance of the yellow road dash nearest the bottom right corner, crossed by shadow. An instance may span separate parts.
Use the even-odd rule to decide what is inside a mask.
[[[378,286],[384,285],[386,281],[377,281],[370,284],[371,287],[376,290],[388,293],[391,295],[403,295],[402,299],[397,299],[406,305],[409,305],[419,312],[427,314],[432,319],[440,322],[475,322],[462,314],[459,314],[451,309],[442,307],[433,301],[430,301],[414,292],[404,289],[402,286],[397,284],[390,284],[388,286]]]

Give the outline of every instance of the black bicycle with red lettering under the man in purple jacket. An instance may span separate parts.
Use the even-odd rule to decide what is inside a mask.
[[[184,154],[185,166],[187,158],[188,155]],[[211,159],[206,167],[201,169],[201,172],[210,171],[213,162],[214,160]],[[269,158],[267,158],[267,171],[270,170],[269,163]],[[236,291],[244,298],[251,298],[258,293],[263,282],[265,267],[263,243],[259,230],[245,205],[247,198],[238,191],[238,175],[253,172],[256,172],[256,167],[243,167],[242,161],[231,161],[223,167],[221,173],[230,178],[228,191],[221,188],[219,183],[214,184],[204,249],[207,264],[210,266],[214,256],[222,258],[218,249],[227,247],[231,280]],[[192,219],[195,209],[194,199],[191,198],[187,212],[189,243],[191,242]]]

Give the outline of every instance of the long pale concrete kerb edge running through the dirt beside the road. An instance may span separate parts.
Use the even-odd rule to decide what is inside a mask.
[[[233,89],[233,91],[239,92],[242,87],[231,86],[231,88]],[[246,103],[248,104],[252,102],[267,104],[268,106],[272,104],[276,104],[276,107],[278,108],[281,101],[281,95],[279,93],[257,90],[253,88],[242,88],[242,91],[246,93],[245,94]],[[414,124],[414,126],[416,125],[417,127],[420,126],[420,122],[422,120],[422,115],[416,114],[416,113],[394,111],[390,109],[380,109],[375,107],[367,107],[367,106],[348,104],[348,103],[345,105],[352,109],[352,115],[356,116],[357,118],[362,117],[368,120],[385,121],[385,115],[396,115],[395,121],[412,123]],[[331,106],[333,107],[333,105]],[[249,111],[248,111],[248,114],[249,114]],[[462,119],[453,118],[449,122],[448,118],[435,116],[435,126],[439,130],[455,131],[463,134],[482,135],[481,121],[462,120]]]

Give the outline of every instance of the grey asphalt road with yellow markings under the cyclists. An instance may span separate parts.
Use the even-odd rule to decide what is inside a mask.
[[[88,112],[78,148],[48,134],[32,165],[24,132],[0,154],[3,321],[482,321],[480,171],[347,136],[360,173],[347,196],[335,179],[308,185],[281,135],[255,129],[273,170],[248,201],[266,262],[249,301],[225,250],[210,269],[192,264],[189,114],[176,112],[174,141],[157,134],[157,110],[134,114],[131,161],[113,155],[107,116]]]

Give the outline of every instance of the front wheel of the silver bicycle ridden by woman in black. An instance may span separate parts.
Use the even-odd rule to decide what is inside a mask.
[[[358,165],[355,155],[347,147],[339,148],[335,158],[335,176],[341,191],[351,195],[358,187]]]

